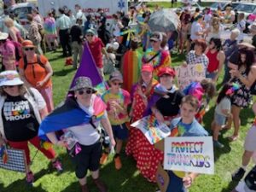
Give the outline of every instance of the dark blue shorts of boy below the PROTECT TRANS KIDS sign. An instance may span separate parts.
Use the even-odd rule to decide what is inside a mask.
[[[177,177],[172,171],[168,172],[170,183],[168,184],[166,192],[186,192],[183,185],[183,178]]]

